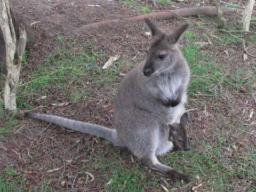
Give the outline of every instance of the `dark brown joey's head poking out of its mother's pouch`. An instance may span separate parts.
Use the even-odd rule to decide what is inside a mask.
[[[169,125],[169,140],[173,142],[174,150],[190,150],[188,146],[188,114],[184,113],[180,118],[180,123]]]

